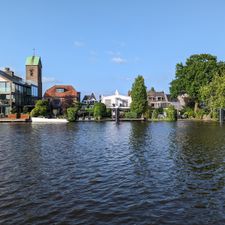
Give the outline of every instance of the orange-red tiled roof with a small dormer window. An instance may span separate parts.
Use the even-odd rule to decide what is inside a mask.
[[[57,89],[64,89],[64,92],[57,92]],[[66,97],[79,97],[79,92],[77,92],[72,85],[54,85],[49,88],[45,94],[45,98],[66,98]]]

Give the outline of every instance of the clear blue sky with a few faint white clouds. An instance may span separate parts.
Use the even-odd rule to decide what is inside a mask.
[[[192,54],[225,61],[224,0],[0,0],[0,9],[0,68],[24,77],[35,48],[44,90],[127,94],[140,74],[168,93]]]

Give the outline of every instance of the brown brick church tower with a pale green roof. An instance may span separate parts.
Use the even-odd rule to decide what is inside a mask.
[[[41,57],[29,56],[26,59],[26,80],[38,86],[38,99],[42,99]]]

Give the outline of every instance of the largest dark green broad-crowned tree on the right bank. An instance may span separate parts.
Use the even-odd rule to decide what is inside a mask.
[[[176,65],[176,76],[171,82],[170,93],[177,97],[181,93],[187,93],[195,102],[195,111],[201,101],[200,89],[208,85],[215,74],[225,71],[225,63],[217,62],[216,56],[199,54],[190,56],[185,64]]]

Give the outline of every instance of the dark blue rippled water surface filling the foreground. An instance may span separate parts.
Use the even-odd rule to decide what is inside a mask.
[[[225,126],[0,124],[0,224],[225,224]]]

